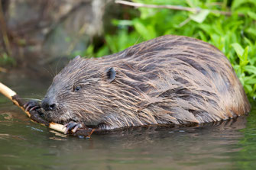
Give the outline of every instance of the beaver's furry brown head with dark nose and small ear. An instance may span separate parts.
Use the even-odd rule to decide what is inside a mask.
[[[110,90],[115,69],[98,66],[96,59],[76,56],[53,79],[42,101],[44,117],[48,121],[83,122],[98,125],[109,111]]]

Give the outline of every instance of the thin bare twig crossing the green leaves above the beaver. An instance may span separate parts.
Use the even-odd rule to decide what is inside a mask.
[[[199,13],[200,11],[204,10],[202,8],[190,8],[190,7],[183,7],[183,6],[176,6],[176,5],[152,5],[152,4],[142,4],[142,3],[135,3],[135,2],[127,2],[122,0],[116,0],[115,3],[122,4],[122,5],[129,5],[137,8],[167,8],[173,9],[178,11],[191,11],[194,13]],[[209,10],[212,13],[224,14],[224,15],[232,15],[232,12],[229,11],[219,11],[219,10]],[[245,14],[238,14],[239,16],[245,16]]]

